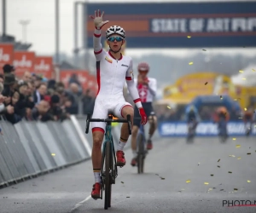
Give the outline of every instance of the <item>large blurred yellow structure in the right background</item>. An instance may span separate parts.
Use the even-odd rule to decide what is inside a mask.
[[[163,97],[174,103],[189,103],[198,95],[230,95],[242,108],[251,104],[256,88],[246,88],[232,83],[231,78],[218,72],[196,72],[177,79],[164,89]],[[220,96],[221,98],[221,96]]]

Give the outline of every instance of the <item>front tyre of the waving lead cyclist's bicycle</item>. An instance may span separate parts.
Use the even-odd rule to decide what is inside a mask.
[[[110,185],[110,174],[109,174],[109,161],[110,161],[110,142],[106,142],[106,155],[105,155],[105,201],[104,201],[104,209],[108,210],[109,205],[109,185]]]

